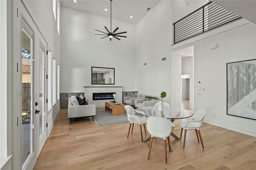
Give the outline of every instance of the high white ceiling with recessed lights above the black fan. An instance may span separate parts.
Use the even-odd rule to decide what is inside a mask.
[[[136,24],[160,1],[155,0],[113,0],[112,18]],[[110,18],[109,0],[61,0],[61,5]],[[105,11],[105,8],[107,11]],[[132,18],[130,18],[132,16]]]

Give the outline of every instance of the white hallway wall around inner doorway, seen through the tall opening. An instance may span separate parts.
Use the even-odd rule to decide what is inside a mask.
[[[189,108],[193,110],[193,56],[181,59],[181,73],[190,74],[189,83]]]

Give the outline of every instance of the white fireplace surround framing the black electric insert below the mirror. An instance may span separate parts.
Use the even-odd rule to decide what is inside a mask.
[[[109,100],[93,101],[93,93],[115,92],[116,101],[122,103],[122,86],[84,86],[84,96],[89,100],[89,104],[94,104],[96,107],[105,106],[105,102]]]

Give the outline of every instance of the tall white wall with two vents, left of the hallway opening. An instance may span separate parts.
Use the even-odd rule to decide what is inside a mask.
[[[160,96],[170,103],[170,56],[172,42],[172,1],[160,1],[136,24],[136,90]],[[161,58],[166,57],[165,61]],[[147,65],[143,65],[146,63]]]

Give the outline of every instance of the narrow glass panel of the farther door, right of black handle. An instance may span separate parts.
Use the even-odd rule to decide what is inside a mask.
[[[44,133],[44,57],[45,47],[39,48],[39,137]]]

